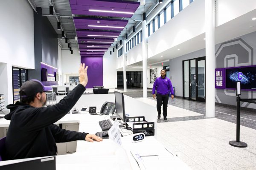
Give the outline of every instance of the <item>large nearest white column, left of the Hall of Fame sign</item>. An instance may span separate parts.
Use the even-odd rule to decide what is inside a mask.
[[[205,1],[205,116],[215,116],[215,0]]]

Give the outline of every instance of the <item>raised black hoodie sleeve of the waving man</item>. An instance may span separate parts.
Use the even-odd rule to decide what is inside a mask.
[[[84,91],[85,87],[79,84],[56,105],[41,108],[26,108],[20,111],[19,114],[13,115],[12,121],[14,121],[15,125],[18,127],[22,127],[23,130],[40,130],[65,116],[73,108]]]

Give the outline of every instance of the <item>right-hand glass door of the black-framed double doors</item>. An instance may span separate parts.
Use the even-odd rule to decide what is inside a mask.
[[[196,59],[196,101],[205,102],[205,57]]]

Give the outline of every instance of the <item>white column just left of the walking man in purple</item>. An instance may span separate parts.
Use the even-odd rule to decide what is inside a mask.
[[[147,87],[147,31],[146,31],[146,21],[142,22],[142,71],[143,71],[143,98],[148,97],[148,87]]]

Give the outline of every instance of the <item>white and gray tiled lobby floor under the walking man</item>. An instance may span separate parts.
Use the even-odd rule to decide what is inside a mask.
[[[148,96],[138,100],[156,105]],[[215,118],[206,118],[205,103],[175,98],[168,104],[168,121],[157,121],[157,140],[193,170],[256,170],[255,113],[241,110],[240,141],[248,147],[238,148],[229,144],[236,140],[235,108],[216,105]]]

